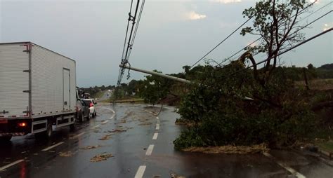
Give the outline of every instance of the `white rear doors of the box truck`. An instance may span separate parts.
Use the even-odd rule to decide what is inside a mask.
[[[30,43],[0,44],[0,119],[27,116],[29,50]]]

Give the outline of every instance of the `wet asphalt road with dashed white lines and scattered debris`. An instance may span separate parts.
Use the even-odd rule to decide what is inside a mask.
[[[63,128],[48,140],[27,135],[1,144],[0,170],[13,165],[0,177],[333,177],[333,167],[296,151],[270,151],[269,156],[174,151],[181,126],[174,124],[178,114],[170,107],[158,117],[150,111],[159,108],[140,104],[98,103],[97,109],[98,116],[77,124],[74,132]],[[114,157],[90,161],[100,153]]]

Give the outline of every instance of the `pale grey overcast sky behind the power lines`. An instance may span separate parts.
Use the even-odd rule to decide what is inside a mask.
[[[134,0],[136,1],[136,0]],[[332,0],[320,0],[312,11]],[[254,0],[146,0],[129,62],[132,67],[178,73],[194,64],[246,19]],[[115,85],[130,0],[0,0],[0,43],[32,41],[77,61],[77,85]],[[332,10],[311,15],[308,22]],[[304,20],[303,22],[306,22]],[[306,29],[306,37],[333,26],[332,13]],[[247,25],[251,25],[248,22]],[[231,36],[207,58],[221,61],[257,36]],[[282,55],[285,65],[333,63],[332,32]],[[256,56],[263,60],[264,56]],[[131,71],[131,79],[145,74]],[[126,77],[124,77],[124,82]]]

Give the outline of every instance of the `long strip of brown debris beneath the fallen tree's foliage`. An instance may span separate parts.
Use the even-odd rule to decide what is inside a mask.
[[[253,146],[208,146],[208,147],[190,147],[183,149],[183,151],[201,152],[201,153],[260,153],[269,151],[266,144],[256,144]]]

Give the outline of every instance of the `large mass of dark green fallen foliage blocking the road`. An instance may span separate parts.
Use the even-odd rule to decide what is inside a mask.
[[[175,140],[176,149],[226,144],[290,145],[313,129],[314,114],[303,101],[306,91],[294,87],[287,68],[275,69],[264,86],[254,80],[252,70],[226,77],[242,69],[237,63],[203,69],[198,76],[205,78],[202,84],[192,85],[178,110],[182,119],[197,124]]]

